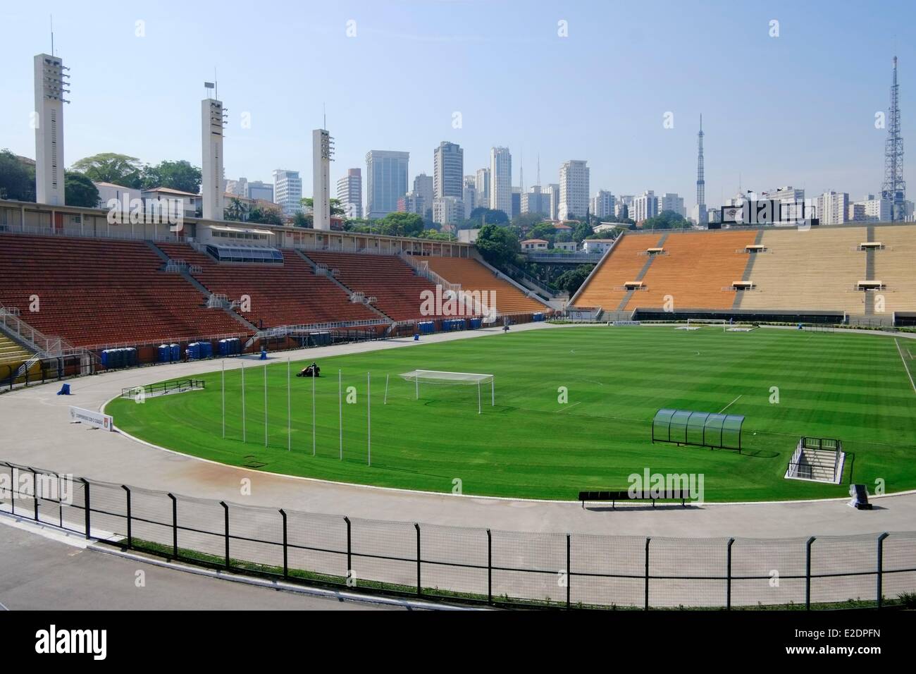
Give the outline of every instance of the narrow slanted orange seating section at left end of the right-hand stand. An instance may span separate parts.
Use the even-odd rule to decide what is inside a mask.
[[[610,255],[589,277],[576,298],[576,306],[600,306],[605,311],[616,311],[627,295],[624,283],[636,281],[649,260],[646,249],[655,247],[659,239],[660,235],[653,234],[625,236],[617,241]]]

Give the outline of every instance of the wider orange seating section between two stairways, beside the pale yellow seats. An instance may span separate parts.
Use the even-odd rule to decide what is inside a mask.
[[[756,236],[753,230],[670,234],[662,244],[663,254],[654,256],[642,278],[646,290],[633,293],[625,308],[664,306],[666,296],[670,296],[675,311],[731,309],[735,291],[725,289],[741,280],[747,266],[744,249]],[[646,236],[634,238],[649,240]]]

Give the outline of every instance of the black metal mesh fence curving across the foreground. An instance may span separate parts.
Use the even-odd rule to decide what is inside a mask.
[[[216,502],[12,463],[0,463],[0,511],[217,569],[491,605],[880,608],[916,591],[916,532],[523,533]]]

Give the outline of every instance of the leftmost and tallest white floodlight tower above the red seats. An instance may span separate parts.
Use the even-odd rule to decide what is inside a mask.
[[[64,205],[63,104],[70,77],[60,57],[37,54],[35,64],[35,201]]]

